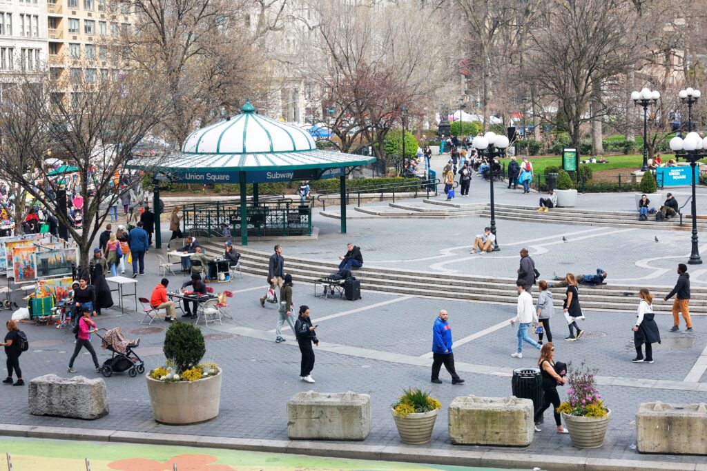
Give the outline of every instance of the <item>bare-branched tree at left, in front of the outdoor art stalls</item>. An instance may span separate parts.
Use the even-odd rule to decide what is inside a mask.
[[[23,80],[0,104],[0,173],[68,227],[85,268],[90,246],[119,198],[116,177],[131,184],[141,180],[127,163],[165,111],[164,88],[137,72],[113,78],[87,70],[74,74],[71,83],[57,83],[48,74]],[[76,167],[83,229],[71,227],[57,207],[64,178],[50,174],[50,149],[52,157]]]

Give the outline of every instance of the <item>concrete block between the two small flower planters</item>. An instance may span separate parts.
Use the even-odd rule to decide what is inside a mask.
[[[513,396],[455,398],[448,419],[455,445],[528,446],[535,432],[532,400]]]

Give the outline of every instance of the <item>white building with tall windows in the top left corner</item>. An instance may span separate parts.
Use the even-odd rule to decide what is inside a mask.
[[[47,60],[46,0],[0,0],[0,97]]]

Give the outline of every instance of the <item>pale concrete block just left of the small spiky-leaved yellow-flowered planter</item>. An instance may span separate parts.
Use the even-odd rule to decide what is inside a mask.
[[[370,395],[297,393],[287,402],[287,436],[309,440],[365,440],[370,434]]]

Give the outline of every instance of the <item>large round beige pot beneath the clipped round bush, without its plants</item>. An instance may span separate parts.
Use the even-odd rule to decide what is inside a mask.
[[[206,376],[197,381],[158,381],[147,379],[152,413],[157,422],[168,425],[196,424],[218,415],[221,402],[221,376]]]

